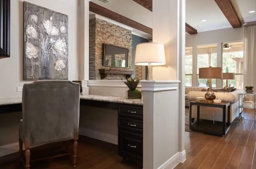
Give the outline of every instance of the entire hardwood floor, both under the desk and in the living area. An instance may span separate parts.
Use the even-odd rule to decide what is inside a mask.
[[[256,129],[253,119],[253,113],[245,113],[240,126],[238,127],[238,121],[233,122],[224,137],[185,132],[186,161],[178,164],[175,169],[256,169]],[[55,147],[56,144],[34,147],[31,156],[56,151]],[[31,164],[31,169],[72,168],[68,156]],[[0,157],[0,169],[22,169],[20,154],[13,153]],[[77,169],[140,169],[140,167],[122,163],[122,157],[117,155],[117,145],[80,136]]]

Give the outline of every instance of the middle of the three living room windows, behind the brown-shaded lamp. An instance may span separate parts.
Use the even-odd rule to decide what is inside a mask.
[[[200,67],[217,67],[217,44],[197,46],[197,79],[198,86],[209,86],[208,79],[199,79]],[[216,79],[212,79],[212,87],[216,87]]]

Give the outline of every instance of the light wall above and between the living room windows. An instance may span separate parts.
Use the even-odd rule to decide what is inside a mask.
[[[196,82],[196,48],[198,45],[217,44],[217,67],[222,67],[222,43],[232,41],[243,41],[243,28],[226,28],[214,31],[199,32],[195,35],[186,34],[186,47],[193,47],[193,77],[192,86]],[[221,87],[221,80],[217,79],[217,88]]]

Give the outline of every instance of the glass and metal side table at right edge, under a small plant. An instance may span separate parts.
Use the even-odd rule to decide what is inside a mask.
[[[247,105],[244,105],[244,99],[246,96],[251,96],[250,98],[253,99],[251,101],[253,101],[253,104],[252,106],[247,106]],[[255,129],[255,122],[256,122],[256,119],[255,119],[255,116],[256,116],[256,93],[240,93],[239,94],[239,98],[238,98],[239,102],[239,108],[238,108],[238,126],[239,126],[239,123],[240,123],[240,118],[242,118],[242,112],[244,111],[243,109],[244,108],[248,108],[248,109],[253,109],[254,110],[254,129]]]

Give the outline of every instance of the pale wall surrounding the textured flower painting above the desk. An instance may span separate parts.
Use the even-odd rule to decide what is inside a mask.
[[[78,0],[26,0],[68,15],[68,80],[78,80]],[[23,80],[23,0],[10,0],[10,58],[0,59],[0,98],[21,96]]]

